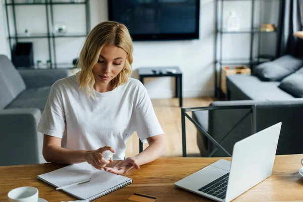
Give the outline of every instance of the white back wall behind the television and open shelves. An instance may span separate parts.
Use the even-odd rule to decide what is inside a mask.
[[[19,0],[21,1],[21,0]],[[64,0],[69,1],[69,0]],[[231,10],[240,16],[240,27],[250,27],[250,1],[227,2],[224,5],[223,18],[226,19]],[[0,17],[2,5],[0,6]],[[25,28],[32,32],[45,32],[45,8],[41,6],[20,7],[17,11],[17,31],[22,33]],[[85,31],[84,6],[57,6],[54,9],[55,22],[65,22],[70,32]],[[22,10],[21,10],[22,9]],[[64,9],[64,11],[63,11]],[[24,12],[28,11],[26,15]],[[268,12],[268,11],[267,11]],[[77,15],[75,15],[77,14]],[[107,0],[90,0],[91,28],[99,22],[106,21]],[[12,12],[9,12],[12,15]],[[39,16],[39,17],[38,17]],[[33,23],[33,20],[35,22]],[[38,22],[37,22],[38,21]],[[10,23],[11,24],[11,23]],[[0,18],[0,52],[5,50],[5,25]],[[13,31],[11,26],[11,31]],[[225,35],[223,44],[224,58],[248,58],[249,34]],[[82,47],[84,38],[56,39],[57,58],[59,63],[70,63]],[[139,67],[178,66],[183,72],[183,96],[210,96],[214,93],[214,51],[215,51],[215,1],[200,1],[200,34],[199,39],[183,41],[148,41],[134,42],[133,77],[137,78]],[[3,51],[4,52],[4,51]],[[5,53],[5,52],[4,52]],[[7,52],[9,53],[9,52]],[[48,60],[47,40],[34,39],[34,60]],[[145,79],[145,86],[151,98],[172,97],[174,80],[169,77]]]

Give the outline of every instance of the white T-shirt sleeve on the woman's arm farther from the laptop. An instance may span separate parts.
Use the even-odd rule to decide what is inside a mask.
[[[65,130],[65,113],[63,100],[57,85],[49,91],[47,102],[36,130],[54,137],[63,137]]]

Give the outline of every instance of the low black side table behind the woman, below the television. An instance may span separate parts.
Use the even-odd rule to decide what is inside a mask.
[[[172,70],[176,72],[171,73]],[[143,85],[145,77],[175,77],[175,97],[179,97],[179,107],[182,107],[182,72],[178,67],[138,68],[138,73]]]

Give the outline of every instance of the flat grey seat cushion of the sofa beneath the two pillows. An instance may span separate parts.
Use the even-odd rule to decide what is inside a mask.
[[[294,97],[279,88],[279,82],[263,81],[252,75],[227,76],[228,89],[241,99],[278,100],[293,99]]]

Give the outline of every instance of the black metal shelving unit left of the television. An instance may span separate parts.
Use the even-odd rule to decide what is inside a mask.
[[[10,1],[10,2],[8,2]],[[25,1],[25,0],[24,0]],[[56,0],[55,0],[56,1]],[[7,17],[7,26],[8,26],[8,39],[10,43],[10,50],[11,54],[13,55],[14,51],[14,44],[18,42],[19,39],[47,39],[47,44],[48,44],[48,60],[51,60],[51,66],[46,67],[46,65],[42,65],[40,67],[37,67],[34,65],[33,67],[26,67],[28,68],[34,68],[34,69],[45,69],[45,68],[51,68],[51,69],[57,69],[57,68],[66,68],[66,69],[73,69],[74,66],[72,64],[72,59],[71,63],[57,63],[57,57],[56,57],[56,38],[78,38],[78,37],[86,37],[87,34],[89,33],[90,30],[90,13],[89,13],[89,0],[82,0],[80,2],[77,1],[65,1],[62,0],[56,1],[54,0],[42,0],[34,2],[34,3],[19,3],[15,2],[15,0],[5,0],[5,9],[6,9],[6,17]],[[85,23],[86,23],[86,30],[83,30],[83,33],[65,33],[65,34],[55,34],[53,33],[53,27],[54,27],[54,5],[82,5],[85,6]],[[46,27],[47,27],[47,33],[31,33],[30,35],[26,34],[20,34],[17,33],[17,19],[16,19],[16,7],[20,6],[45,6],[45,15],[46,15]],[[9,18],[9,12],[8,9],[12,9],[13,13],[13,30],[15,33],[11,33],[10,29],[10,18]],[[30,42],[30,41],[29,41]],[[76,56],[75,56],[76,57]]]

